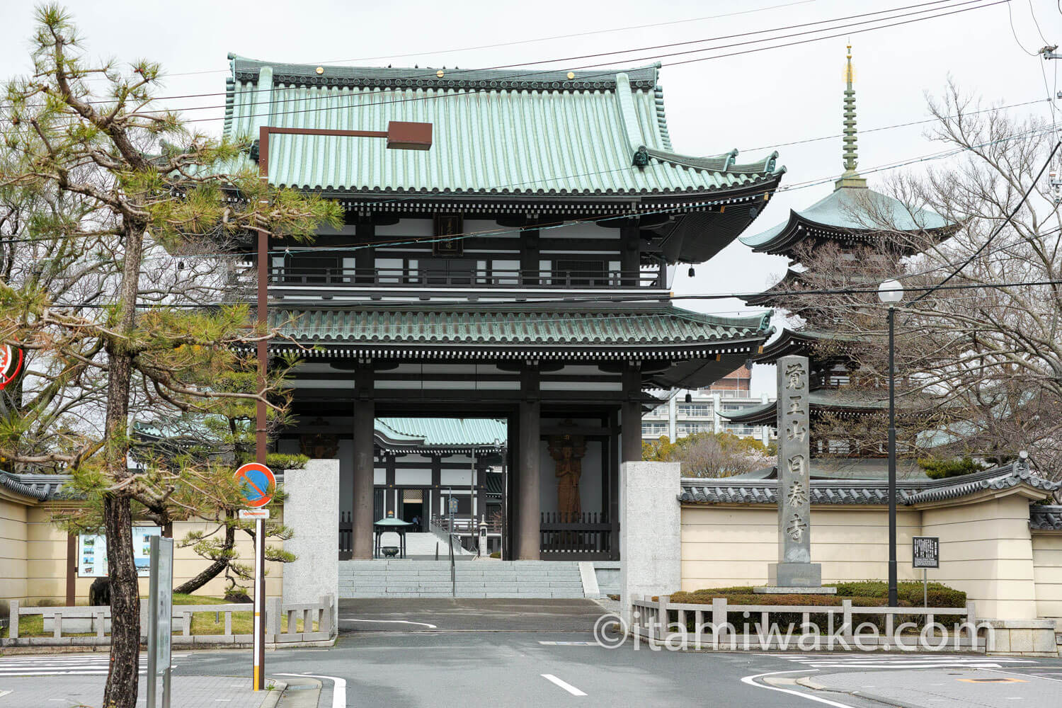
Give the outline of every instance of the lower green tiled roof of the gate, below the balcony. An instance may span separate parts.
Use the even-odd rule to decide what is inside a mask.
[[[271,326],[301,343],[402,347],[673,347],[763,341],[771,331],[769,315],[716,317],[671,306],[620,311],[274,306],[269,314]]]

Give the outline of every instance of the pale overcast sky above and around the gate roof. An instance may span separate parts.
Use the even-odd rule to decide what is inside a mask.
[[[991,1],[978,0],[964,6]],[[919,2],[72,0],[67,6],[73,11],[92,55],[160,62],[169,74],[161,93],[171,96],[223,92],[228,52],[305,64],[493,67],[719,37]],[[956,0],[939,4],[954,2]],[[777,6],[784,4],[788,6]],[[1013,13],[1017,40],[1008,20],[1008,4]],[[757,7],[765,10],[696,19]],[[1048,41],[1041,38],[1032,13]],[[845,22],[856,21],[858,19]],[[620,29],[665,22],[670,23]],[[1042,100],[1039,105],[1015,110],[1048,115],[1048,91],[1042,72],[1047,72],[1046,81],[1054,94],[1059,62],[1045,63],[1039,56],[1030,56],[1018,41],[1030,52],[1045,44],[1059,44],[1062,15],[1056,0],[1033,0],[1031,12],[1028,0],[1013,0],[896,28],[873,32],[859,32],[858,29],[851,28],[851,40],[860,128],[925,118],[926,96],[939,94],[948,76],[976,91],[987,102],[1011,104]],[[25,0],[5,0],[0,24],[0,74],[10,76],[29,69],[32,31],[33,4]],[[582,34],[587,32],[595,34]],[[835,33],[837,31],[824,34]],[[573,34],[581,36],[528,41]],[[781,39],[774,44],[804,38],[807,37]],[[746,39],[748,37],[717,44]],[[469,49],[483,45],[501,46]],[[688,155],[715,155],[737,148],[742,153],[740,161],[747,161],[778,145],[780,161],[789,170],[783,185],[839,174],[842,169],[839,137],[795,145],[780,143],[840,132],[844,45],[845,37],[837,37],[679,66],[668,64],[704,54],[661,56],[664,63],[661,82],[675,151]],[[717,53],[755,46],[723,49]],[[660,54],[689,48],[636,51],[618,55],[614,65],[644,65],[655,61]],[[586,63],[584,59],[547,66],[565,68]],[[222,103],[224,97],[215,96],[173,101],[171,105],[191,107]],[[221,108],[187,114],[188,118],[220,119],[221,116]],[[220,120],[206,125],[216,132],[221,129]],[[923,126],[903,127],[861,137],[859,167],[869,169],[941,150],[925,139],[923,129]],[[884,174],[871,175],[871,186],[881,178]],[[790,208],[806,207],[832,188],[832,185],[820,185],[780,192],[749,232],[758,232],[783,221]],[[679,294],[760,290],[772,281],[772,277],[781,276],[785,266],[783,258],[754,255],[735,242],[710,262],[698,266],[693,278],[687,278],[683,269],[674,290]],[[680,305],[706,312],[749,312],[736,299],[682,300]],[[773,390],[772,376],[769,367],[757,366],[754,387]]]

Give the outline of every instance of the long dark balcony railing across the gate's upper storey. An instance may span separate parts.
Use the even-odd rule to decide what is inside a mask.
[[[663,288],[661,271],[424,267],[271,267],[277,286]]]

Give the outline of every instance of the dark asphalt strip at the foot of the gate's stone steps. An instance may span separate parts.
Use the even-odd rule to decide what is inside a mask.
[[[592,632],[593,600],[397,599],[339,601],[341,632]]]

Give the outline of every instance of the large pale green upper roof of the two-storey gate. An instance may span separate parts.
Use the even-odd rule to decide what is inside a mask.
[[[386,131],[429,122],[429,151],[272,135],[270,182],[327,192],[631,195],[770,191],[776,155],[736,163],[672,152],[658,65],[631,69],[381,69],[230,55],[225,134],[260,125]],[[318,73],[318,69],[321,73]],[[441,74],[441,75],[440,75]]]

